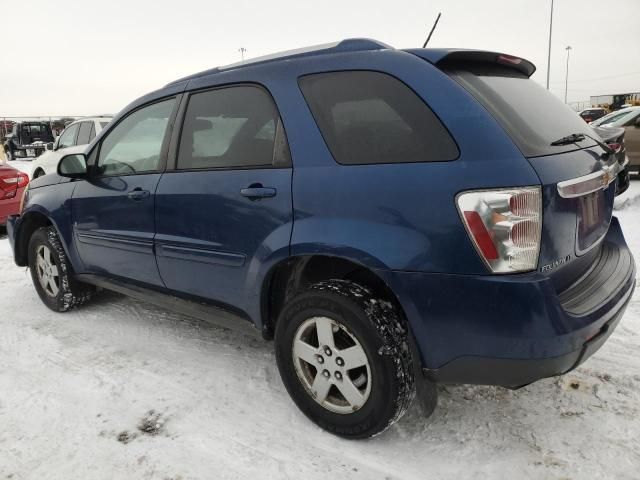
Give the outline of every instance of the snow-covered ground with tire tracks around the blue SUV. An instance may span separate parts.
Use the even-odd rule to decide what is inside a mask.
[[[640,181],[616,215],[640,257]],[[638,352],[640,292],[577,371],[441,387],[430,419],[345,441],[298,412],[271,343],[110,293],[53,313],[0,239],[0,478],[637,479]]]

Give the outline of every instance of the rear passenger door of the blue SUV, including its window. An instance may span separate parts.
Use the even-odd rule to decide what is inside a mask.
[[[193,93],[176,150],[156,194],[162,279],[242,305],[248,275],[275,249],[288,252],[291,235],[291,162],[275,103],[256,85]]]

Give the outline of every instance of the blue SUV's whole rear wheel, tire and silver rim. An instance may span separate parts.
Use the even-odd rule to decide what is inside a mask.
[[[344,280],[311,286],[283,309],[276,359],[300,410],[325,430],[367,438],[415,396],[408,327],[389,302]]]

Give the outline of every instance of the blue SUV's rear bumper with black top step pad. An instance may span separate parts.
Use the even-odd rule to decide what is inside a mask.
[[[575,368],[620,321],[635,264],[615,217],[604,242],[603,252],[618,254],[560,294],[537,272],[379,273],[403,306],[428,378],[520,386]]]

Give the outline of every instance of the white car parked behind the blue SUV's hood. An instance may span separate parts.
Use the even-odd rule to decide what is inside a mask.
[[[64,129],[47,151],[33,161],[31,178],[55,173],[60,159],[69,153],[84,153],[85,148],[111,121],[110,116],[78,119]]]

